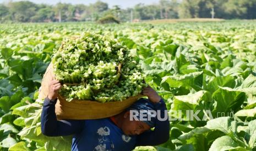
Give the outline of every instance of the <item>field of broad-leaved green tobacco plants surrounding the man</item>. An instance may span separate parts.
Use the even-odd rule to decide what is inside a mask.
[[[126,45],[167,104],[170,140],[135,150],[256,150],[256,21],[240,20],[0,24],[0,150],[70,150],[42,135],[37,96],[53,50],[84,32]]]

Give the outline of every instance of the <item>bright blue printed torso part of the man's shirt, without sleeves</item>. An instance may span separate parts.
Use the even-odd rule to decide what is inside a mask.
[[[124,135],[109,118],[85,120],[84,129],[73,137],[72,150],[132,150],[135,141],[135,136]]]

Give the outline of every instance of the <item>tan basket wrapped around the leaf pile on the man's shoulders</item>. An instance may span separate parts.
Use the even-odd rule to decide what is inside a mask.
[[[39,92],[40,99],[48,95],[48,84],[53,76],[53,65],[50,63],[43,75]],[[140,97],[143,97],[143,95],[128,97],[123,101],[100,103],[90,100],[73,100],[68,102],[64,97],[59,95],[55,105],[55,113],[58,120],[107,118],[123,112],[124,109],[132,105]]]

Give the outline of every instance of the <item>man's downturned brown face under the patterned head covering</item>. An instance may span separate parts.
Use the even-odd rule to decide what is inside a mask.
[[[124,120],[121,129],[125,135],[140,135],[144,131],[150,130],[150,126],[143,121],[133,119],[130,121],[130,112],[124,114]]]

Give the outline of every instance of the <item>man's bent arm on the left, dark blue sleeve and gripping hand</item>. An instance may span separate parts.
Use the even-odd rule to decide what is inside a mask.
[[[41,113],[41,131],[43,135],[66,136],[78,133],[83,129],[84,120],[57,120],[55,104],[61,87],[59,81],[53,79],[48,86],[48,96],[43,102]]]

